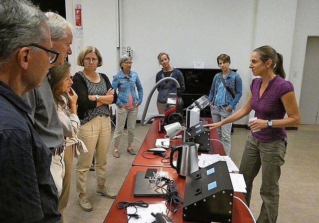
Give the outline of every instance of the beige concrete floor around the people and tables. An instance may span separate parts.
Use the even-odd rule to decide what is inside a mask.
[[[150,125],[136,125],[136,138],[143,140]],[[241,155],[249,130],[235,128],[232,135],[231,158],[239,167]],[[142,141],[136,139],[133,147],[138,150]],[[132,166],[135,156],[126,151],[126,135],[122,135],[120,158],[112,155],[113,147],[108,151],[108,169],[106,185],[118,192]],[[288,131],[288,150],[280,179],[280,206],[277,223],[316,223],[319,222],[319,125],[299,125],[298,130]],[[74,159],[74,166],[76,159]],[[254,182],[251,211],[258,218],[261,207],[259,188],[261,173]],[[75,190],[73,175],[69,204],[64,212],[65,223],[102,223],[114,200],[98,196],[96,191],[95,172],[90,171],[87,183],[92,212],[84,212],[77,203],[78,193]]]

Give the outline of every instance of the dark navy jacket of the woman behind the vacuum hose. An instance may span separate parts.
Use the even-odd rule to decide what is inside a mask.
[[[179,70],[173,68],[173,72],[171,73],[170,77],[175,78],[178,81],[180,86],[179,93],[181,94],[185,90],[183,74]],[[161,69],[156,74],[156,83],[158,83],[163,78],[164,78],[163,69]],[[177,88],[174,82],[164,81],[158,87],[158,91],[159,91],[158,102],[166,103],[168,93],[177,93]]]

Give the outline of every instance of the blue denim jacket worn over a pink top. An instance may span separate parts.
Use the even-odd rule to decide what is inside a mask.
[[[116,105],[119,107],[122,104],[125,106],[128,105],[129,102],[129,93],[132,94],[133,97],[133,105],[136,103],[142,104],[143,100],[143,87],[138,76],[138,73],[135,71],[130,71],[129,77],[127,77],[123,70],[120,70],[119,73],[113,76],[112,87],[116,91],[118,89],[118,100]],[[135,87],[138,90],[138,95],[135,90]]]

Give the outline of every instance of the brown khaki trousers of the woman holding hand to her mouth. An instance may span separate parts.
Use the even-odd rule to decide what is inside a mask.
[[[76,144],[70,145],[66,147],[66,149],[64,150],[65,173],[63,177],[63,183],[62,183],[62,193],[59,198],[59,206],[58,206],[58,211],[61,213],[60,223],[64,222],[63,212],[69,201],[75,146]]]

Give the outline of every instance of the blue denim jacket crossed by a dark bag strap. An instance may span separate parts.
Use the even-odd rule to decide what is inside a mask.
[[[226,76],[225,82],[229,86],[229,88],[233,91],[233,93],[235,94],[234,99],[227,90],[226,90],[226,95],[225,95],[225,101],[226,101],[228,108],[230,108],[231,110],[234,110],[236,108],[237,103],[239,102],[239,99],[241,98],[241,96],[243,94],[242,80],[241,80],[241,77],[239,76],[239,74],[230,70],[229,74]],[[211,89],[209,91],[209,102],[211,104],[214,104],[219,84],[223,85],[223,83],[219,77],[219,74],[216,74],[214,79],[213,79]]]

